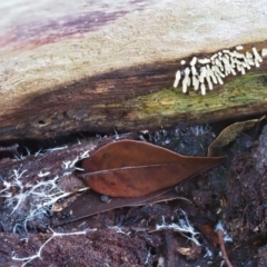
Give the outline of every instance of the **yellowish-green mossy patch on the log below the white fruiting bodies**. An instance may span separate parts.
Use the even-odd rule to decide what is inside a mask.
[[[266,102],[267,73],[250,72],[228,81],[222,87],[207,91],[206,96],[199,91],[182,93],[181,88],[165,88],[158,92],[138,97],[135,106],[138,107],[139,118],[151,115],[175,116],[177,113],[206,113],[209,111],[226,110],[239,106]],[[132,105],[132,102],[131,102]]]

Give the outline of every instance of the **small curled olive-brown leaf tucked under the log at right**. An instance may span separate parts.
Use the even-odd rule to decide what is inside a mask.
[[[216,157],[220,156],[221,148],[230,144],[237,138],[237,135],[241,131],[248,130],[253,128],[257,122],[265,119],[266,116],[261,117],[260,119],[253,119],[253,120],[246,120],[241,122],[233,123],[228,127],[226,127],[219,136],[209,145],[208,148],[208,157]]]

